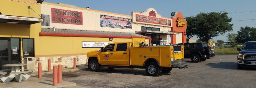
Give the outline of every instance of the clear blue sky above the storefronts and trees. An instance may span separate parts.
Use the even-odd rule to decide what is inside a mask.
[[[44,0],[50,3],[64,3],[77,7],[90,7],[90,9],[107,11],[119,14],[131,15],[132,11],[142,12],[153,7],[163,17],[170,18],[171,12],[180,11],[184,17],[195,16],[199,12],[219,12],[226,11],[234,22],[233,31],[236,33],[240,27],[256,27],[256,20],[236,21],[256,19],[256,0]],[[251,11],[251,12],[248,12]],[[241,13],[235,13],[241,12]],[[227,33],[214,40],[227,41]],[[193,37],[192,39],[197,39]]]

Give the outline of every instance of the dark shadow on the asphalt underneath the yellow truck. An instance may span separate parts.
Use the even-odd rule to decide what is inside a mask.
[[[91,72],[91,70],[89,68],[82,69],[82,70]],[[120,74],[132,74],[132,75],[147,76],[145,69],[114,68],[113,70],[110,70],[108,68],[101,67],[97,72],[104,72],[103,74],[105,74],[105,73],[120,73]],[[169,73],[171,73],[171,72],[169,72]],[[169,73],[160,72],[158,74],[158,76],[171,75]]]

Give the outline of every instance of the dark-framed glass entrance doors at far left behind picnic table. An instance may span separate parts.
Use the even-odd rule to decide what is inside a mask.
[[[20,38],[0,37],[0,70],[3,65],[20,63]]]

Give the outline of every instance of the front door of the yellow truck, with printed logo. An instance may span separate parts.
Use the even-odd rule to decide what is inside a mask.
[[[114,64],[114,48],[115,44],[110,44],[103,49],[103,52],[100,53],[99,64],[103,65],[113,65]]]

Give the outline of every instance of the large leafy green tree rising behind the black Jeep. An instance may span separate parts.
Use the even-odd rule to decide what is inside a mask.
[[[227,16],[227,12],[209,12],[199,13],[196,16],[197,37],[203,42],[208,42],[212,37],[224,34],[227,31],[233,30],[233,24],[230,23],[232,18]],[[189,25],[187,25],[189,26]]]

